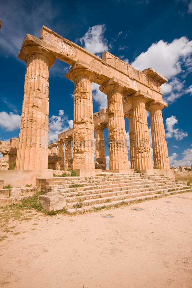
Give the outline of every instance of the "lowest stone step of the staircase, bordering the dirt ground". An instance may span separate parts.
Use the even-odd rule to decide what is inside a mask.
[[[192,192],[192,189],[186,189],[186,190],[177,190],[175,192],[172,192],[173,194],[175,193],[185,193],[185,192]],[[123,199],[123,200],[116,200],[113,202],[105,202],[105,203],[99,203],[99,204],[94,204],[94,206],[83,206],[82,208],[71,208],[71,209],[67,209],[67,212],[69,213],[75,213],[75,212],[82,212],[82,211],[89,211],[89,210],[93,210],[95,209],[98,210],[99,208],[107,208],[109,206],[115,205],[115,204],[121,204],[123,202],[129,204],[132,203],[134,201],[138,201],[139,200],[147,200],[147,199],[157,199],[159,197],[162,197],[162,195],[170,195],[170,192],[165,192],[163,194],[149,194],[149,195],[144,195],[144,196],[139,196],[139,197],[134,197],[135,195],[133,195],[133,198],[127,198],[127,199]]]

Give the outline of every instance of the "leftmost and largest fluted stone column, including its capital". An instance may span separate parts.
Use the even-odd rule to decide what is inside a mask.
[[[16,169],[47,169],[48,69],[55,58],[40,46],[25,46],[18,57],[27,68]]]

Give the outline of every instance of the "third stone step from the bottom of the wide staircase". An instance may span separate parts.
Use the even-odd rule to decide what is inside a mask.
[[[146,183],[129,183],[128,185],[123,184],[114,184],[114,185],[96,185],[96,186],[82,186],[82,187],[71,187],[71,188],[58,188],[58,189],[52,189],[52,190],[48,190],[49,192],[46,193],[73,193],[73,192],[82,192],[82,191],[88,191],[89,194],[94,194],[94,193],[99,193],[100,191],[102,192],[112,192],[112,191],[118,191],[120,190],[120,188],[122,188],[122,190],[131,190],[131,189],[137,189],[137,188],[150,188],[155,189],[155,187],[159,188],[161,186],[183,186],[185,185],[182,182],[174,182],[174,181],[170,181],[170,182],[160,182],[158,183],[157,181],[155,183],[153,183],[152,185],[146,185]],[[148,187],[147,187],[148,186]],[[99,192],[98,192],[99,191]],[[101,193],[102,193],[101,192]]]

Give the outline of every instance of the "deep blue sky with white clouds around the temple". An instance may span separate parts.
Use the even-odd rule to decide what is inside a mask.
[[[18,137],[26,63],[17,58],[27,33],[43,25],[101,57],[104,50],[136,69],[153,67],[168,78],[161,86],[171,165],[192,164],[192,1],[1,1],[0,140]],[[49,139],[72,125],[69,65],[56,60],[49,77]],[[93,112],[106,107],[97,84]],[[150,132],[150,118],[149,132]],[[126,132],[129,130],[125,119]],[[127,133],[128,135],[128,133]],[[107,138],[107,129],[105,131]],[[106,149],[106,156],[108,151]],[[108,158],[107,158],[108,160]]]

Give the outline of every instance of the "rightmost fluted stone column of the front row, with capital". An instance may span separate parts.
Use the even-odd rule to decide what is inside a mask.
[[[161,111],[164,107],[167,107],[166,103],[154,100],[148,105],[147,110],[150,112],[154,169],[169,170],[170,164]]]

